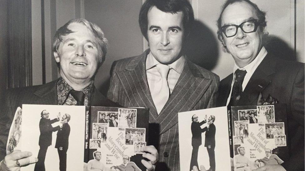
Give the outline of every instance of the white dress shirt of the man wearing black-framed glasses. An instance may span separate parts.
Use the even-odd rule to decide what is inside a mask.
[[[250,80],[250,78],[252,77],[254,71],[257,69],[258,65],[262,62],[262,60],[265,58],[266,55],[267,55],[267,50],[265,49],[265,47],[262,47],[261,51],[259,51],[256,58],[250,64],[247,64],[243,68],[239,68],[236,63],[234,64],[233,80],[232,80],[232,84],[231,84],[230,94],[229,94],[229,97],[227,99],[227,105],[229,104],[230,99],[231,99],[232,87],[233,87],[234,80],[235,80],[235,74],[234,74],[235,71],[237,69],[247,71],[247,74],[245,75],[245,78],[243,79],[243,82],[242,82],[242,91],[244,91],[248,82],[249,82],[249,80]]]

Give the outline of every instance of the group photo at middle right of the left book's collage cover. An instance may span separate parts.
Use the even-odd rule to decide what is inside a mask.
[[[145,141],[145,128],[125,128],[125,132],[130,134],[125,137],[126,144],[133,145],[133,142],[144,142]],[[126,135],[127,135],[126,134]]]

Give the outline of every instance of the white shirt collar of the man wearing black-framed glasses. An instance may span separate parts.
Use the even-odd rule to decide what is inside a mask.
[[[265,49],[265,47],[262,47],[262,49],[257,54],[256,58],[250,64],[247,64],[243,68],[239,68],[235,63],[233,68],[233,73],[235,73],[237,69],[240,69],[240,70],[246,70],[247,73],[249,74],[250,73],[253,74],[254,71],[257,69],[257,66],[262,62],[262,60],[265,58],[266,55],[267,55],[267,50]]]

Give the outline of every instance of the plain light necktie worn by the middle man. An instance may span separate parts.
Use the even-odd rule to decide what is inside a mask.
[[[161,75],[161,79],[156,82],[155,89],[152,93],[153,102],[160,114],[169,97],[169,87],[167,82],[168,71],[170,67],[164,64],[157,64],[157,70]]]

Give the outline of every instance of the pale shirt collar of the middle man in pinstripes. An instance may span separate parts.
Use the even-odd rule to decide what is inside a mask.
[[[185,62],[185,57],[184,57],[184,55],[182,55],[179,59],[177,59],[172,64],[168,64],[168,66],[170,66],[171,69],[174,69],[176,72],[181,74],[183,67],[184,67],[184,62]],[[147,58],[146,58],[146,70],[152,69],[157,64],[160,64],[160,62],[157,61],[157,59],[155,59],[152,52],[149,52],[149,54],[147,55]]]

